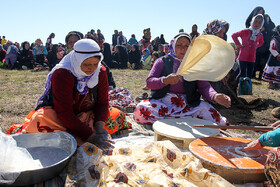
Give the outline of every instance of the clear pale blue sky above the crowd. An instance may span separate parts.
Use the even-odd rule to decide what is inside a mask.
[[[202,33],[213,19],[230,23],[231,34],[245,28],[250,12],[262,6],[275,25],[280,24],[279,0],[5,0],[1,2],[0,35],[13,42],[45,43],[51,32],[53,43],[64,43],[72,30],[86,33],[100,29],[108,43],[114,29],[122,30],[130,38],[142,38],[143,29],[151,28],[152,39],[164,34],[170,42],[179,29],[191,32],[193,24]]]

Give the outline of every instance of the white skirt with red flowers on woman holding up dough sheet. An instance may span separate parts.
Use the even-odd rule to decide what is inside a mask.
[[[134,112],[137,122],[150,125],[160,119],[189,116],[209,120],[218,125],[229,124],[225,117],[205,101],[201,101],[197,107],[190,107],[184,94],[168,93],[161,99],[146,99],[137,105]]]

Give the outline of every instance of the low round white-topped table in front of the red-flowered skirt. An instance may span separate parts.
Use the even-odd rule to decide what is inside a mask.
[[[217,125],[211,121],[197,118],[172,118],[158,120],[153,124],[155,141],[170,140],[183,149],[188,149],[190,142],[197,138],[216,136],[219,129],[194,128],[194,125]],[[177,140],[177,141],[176,141]]]

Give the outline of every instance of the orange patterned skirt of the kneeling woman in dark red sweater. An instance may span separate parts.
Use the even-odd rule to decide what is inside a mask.
[[[93,128],[93,119],[94,115],[92,112],[80,113],[78,118]],[[109,113],[107,118],[107,123],[105,129],[109,134],[114,134],[120,130],[131,129],[131,123],[126,120],[126,114],[115,107],[109,107]],[[57,132],[57,131],[66,131],[66,128],[58,120],[56,112],[52,107],[42,107],[39,110],[32,110],[25,118],[24,123],[12,124],[8,129],[7,134],[15,134],[20,132],[25,133],[36,133],[36,132]],[[75,137],[76,140],[78,137]],[[78,140],[77,140],[78,141]],[[82,141],[78,141],[82,142]]]

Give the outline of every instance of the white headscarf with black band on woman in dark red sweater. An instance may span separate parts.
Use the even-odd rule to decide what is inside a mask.
[[[84,60],[93,57],[101,56],[97,69],[91,74],[87,75],[81,69],[81,64]],[[93,88],[98,84],[99,72],[101,69],[101,61],[103,60],[103,54],[100,51],[99,45],[92,39],[81,39],[74,45],[74,50],[67,54],[59,64],[57,64],[47,76],[45,84],[45,92],[39,98],[40,101],[51,88],[51,79],[53,73],[57,69],[67,69],[77,78],[77,90],[80,94],[84,95],[88,92],[88,88]]]

